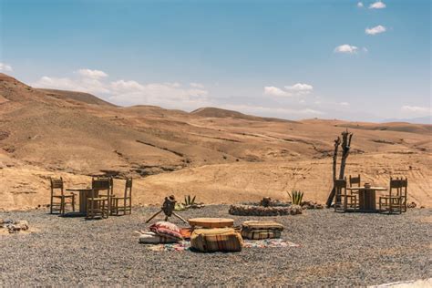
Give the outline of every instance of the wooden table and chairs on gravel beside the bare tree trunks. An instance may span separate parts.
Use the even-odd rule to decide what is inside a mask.
[[[370,183],[362,185],[360,175],[355,177],[350,175],[349,182],[346,177],[334,180],[334,211],[400,214],[406,212],[407,189],[408,180],[402,177],[390,177],[387,189],[372,186]],[[377,194],[379,194],[378,199]]]

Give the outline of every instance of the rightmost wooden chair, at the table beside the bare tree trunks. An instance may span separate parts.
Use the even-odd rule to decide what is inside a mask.
[[[403,202],[406,204],[407,180],[402,178],[393,179],[390,177],[390,187],[388,195],[379,197],[379,211],[392,213],[402,213]],[[406,211],[406,209],[405,209]]]

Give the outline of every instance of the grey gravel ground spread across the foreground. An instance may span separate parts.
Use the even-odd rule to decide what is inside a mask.
[[[190,217],[228,214],[228,206],[181,211]],[[0,235],[0,286],[15,285],[304,285],[345,286],[432,277],[430,209],[402,215],[305,211],[267,217],[285,225],[296,248],[237,253],[150,252],[136,230],[156,208],[102,221],[62,218],[46,211],[0,212],[38,231]],[[174,220],[174,218],[172,219]],[[179,221],[175,220],[179,223]]]

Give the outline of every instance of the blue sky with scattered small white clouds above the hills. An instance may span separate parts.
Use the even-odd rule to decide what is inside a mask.
[[[0,70],[35,87],[280,118],[431,113],[430,1],[0,2]]]

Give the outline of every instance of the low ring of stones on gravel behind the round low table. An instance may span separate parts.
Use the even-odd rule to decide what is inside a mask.
[[[231,205],[229,213],[238,216],[280,216],[302,214],[302,207],[291,206],[261,206],[261,205]]]

